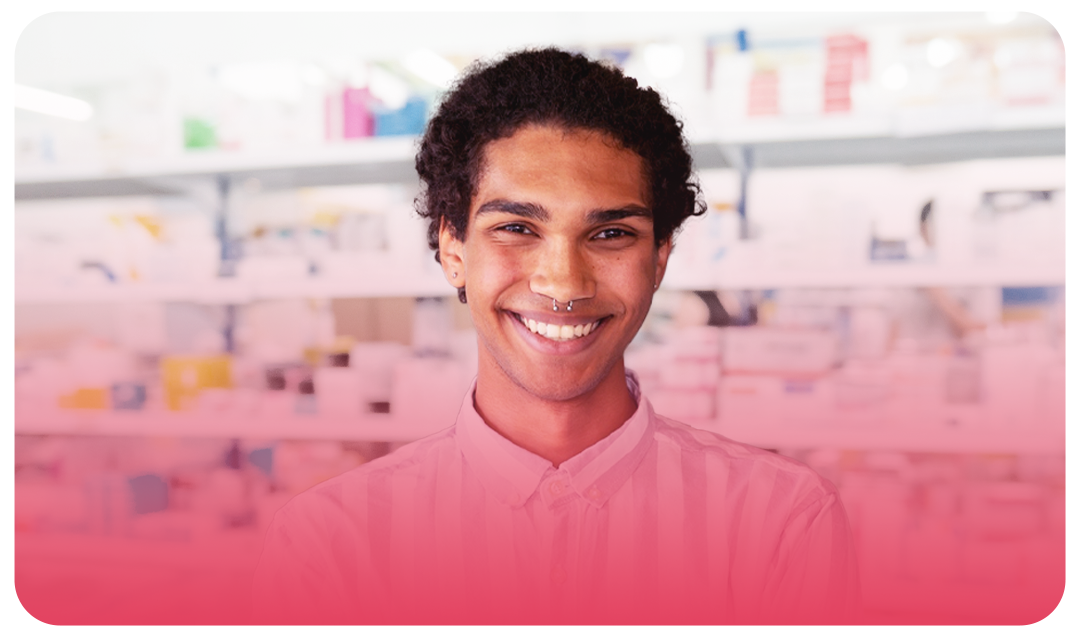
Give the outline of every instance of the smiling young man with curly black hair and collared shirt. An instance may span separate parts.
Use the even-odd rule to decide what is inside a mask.
[[[556,50],[471,70],[418,201],[480,367],[456,423],[300,494],[256,575],[265,623],[843,621],[854,562],[808,467],[657,416],[623,352],[699,214],[680,124]]]

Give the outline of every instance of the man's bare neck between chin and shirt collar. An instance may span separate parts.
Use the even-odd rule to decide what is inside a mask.
[[[474,404],[490,427],[555,467],[607,437],[637,410],[620,359],[590,391],[570,399],[537,397],[498,366],[481,366]]]

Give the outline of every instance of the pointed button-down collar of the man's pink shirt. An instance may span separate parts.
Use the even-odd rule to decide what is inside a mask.
[[[633,372],[626,372],[626,386],[637,402],[634,414],[610,435],[558,467],[573,490],[596,507],[603,506],[637,467],[651,440],[646,435],[656,427],[656,413],[648,399],[642,397]],[[508,506],[522,506],[544,476],[555,472],[554,466],[488,426],[473,404],[475,390],[473,380],[458,411],[455,438],[484,488]]]

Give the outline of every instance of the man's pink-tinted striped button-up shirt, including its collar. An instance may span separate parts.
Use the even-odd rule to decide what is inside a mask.
[[[254,587],[265,624],[843,623],[836,489],[809,467],[637,410],[558,468],[455,425],[297,495]],[[475,388],[475,385],[473,386]]]

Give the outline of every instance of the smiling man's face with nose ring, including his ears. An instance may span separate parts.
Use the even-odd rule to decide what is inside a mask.
[[[539,125],[486,147],[465,240],[445,228],[440,240],[447,278],[467,287],[482,379],[548,400],[622,375],[671,250],[653,239],[640,157]]]

